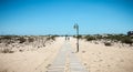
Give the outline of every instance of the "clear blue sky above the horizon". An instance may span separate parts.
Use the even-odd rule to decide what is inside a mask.
[[[132,0],[0,0],[0,34],[126,33]]]

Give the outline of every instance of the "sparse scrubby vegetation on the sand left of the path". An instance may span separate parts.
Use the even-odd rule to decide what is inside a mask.
[[[33,48],[43,48],[47,42],[55,41],[58,35],[0,35],[0,52],[13,53],[12,48],[24,48],[32,45]],[[19,50],[23,52],[23,49]]]

